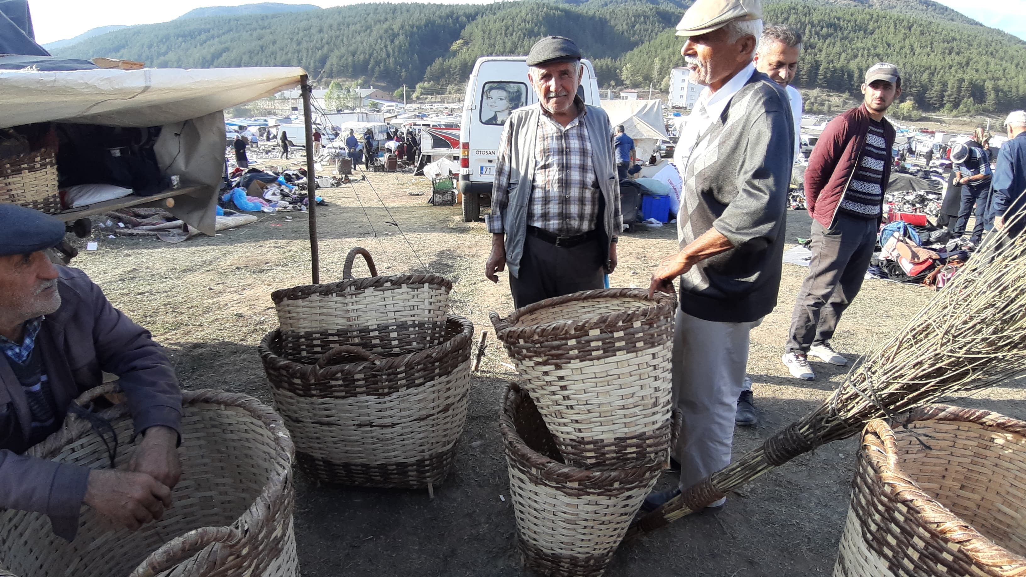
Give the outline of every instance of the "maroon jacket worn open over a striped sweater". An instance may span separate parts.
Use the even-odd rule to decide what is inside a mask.
[[[869,111],[866,105],[839,115],[831,120],[808,157],[808,167],[805,168],[805,204],[808,216],[819,221],[821,225],[830,228],[841,197],[852,180],[852,174],[859,165],[859,155],[866,144],[866,133],[869,132]],[[895,145],[895,128],[884,118],[883,140],[886,150]],[[891,163],[883,163],[883,183],[891,182]]]

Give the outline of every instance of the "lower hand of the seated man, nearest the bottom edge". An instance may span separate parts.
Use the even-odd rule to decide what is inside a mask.
[[[94,469],[85,490],[89,505],[132,531],[160,520],[171,506],[171,490],[146,473]]]

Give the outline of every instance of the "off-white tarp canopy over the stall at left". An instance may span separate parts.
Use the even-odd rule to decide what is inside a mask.
[[[0,71],[0,128],[32,122],[161,126],[300,84],[302,68]]]

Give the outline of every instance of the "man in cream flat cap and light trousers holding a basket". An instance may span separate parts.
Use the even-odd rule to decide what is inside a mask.
[[[758,0],[698,0],[677,25],[692,78],[706,87],[674,157],[684,183],[680,248],[649,287],[669,293],[680,277],[673,343],[680,484],[650,495],[646,509],[729,464],[749,332],[777,304],[795,134],[784,88],[752,65],[761,33]]]

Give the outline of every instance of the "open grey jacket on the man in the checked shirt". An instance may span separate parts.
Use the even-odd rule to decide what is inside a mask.
[[[620,205],[620,181],[613,154],[613,126],[605,111],[597,106],[585,105],[588,113],[584,116],[591,145],[591,162],[595,167],[598,188],[605,199],[602,215],[602,249],[608,258],[609,238],[619,236],[623,221],[617,222],[616,207]],[[502,207],[503,229],[506,231],[506,266],[510,274],[519,277],[520,258],[523,256],[523,239],[527,234],[527,208],[530,205],[531,183],[535,181],[535,140],[538,134],[539,116],[542,105],[532,104],[519,108],[510,114],[506,130],[515,130],[514,146],[510,147],[510,184],[507,188],[506,206]]]

